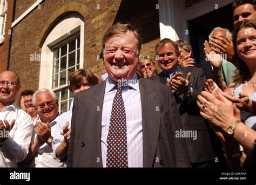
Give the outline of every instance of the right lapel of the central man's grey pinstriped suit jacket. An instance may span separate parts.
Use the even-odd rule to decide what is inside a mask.
[[[160,129],[160,105],[156,88],[146,79],[139,80],[142,100],[143,167],[153,167]]]

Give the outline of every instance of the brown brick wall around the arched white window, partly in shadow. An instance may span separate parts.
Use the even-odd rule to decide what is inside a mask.
[[[90,68],[92,71],[97,71],[101,74],[105,73],[103,61],[101,59],[98,60],[102,49],[102,37],[106,30],[118,19],[129,20],[132,24],[136,24],[134,26],[138,28],[143,37],[142,54],[154,56],[154,46],[160,37],[158,10],[156,10],[157,0],[150,1],[150,3],[143,0],[144,4],[136,4],[137,7],[132,9],[125,9],[123,4],[126,5],[127,2],[138,1],[45,0],[41,4],[41,9],[33,10],[14,27],[12,38],[10,70],[18,73],[21,78],[21,91],[28,88],[32,90],[38,89],[40,62],[30,61],[30,54],[41,53],[45,33],[50,31],[55,22],[57,22],[58,19],[56,17],[58,17],[59,13],[62,13],[61,15],[63,16],[65,15],[63,13],[65,10],[76,10],[84,17],[85,68]],[[17,1],[16,10],[18,14],[21,15],[33,3],[34,1],[31,0],[24,5],[23,1]],[[82,5],[86,6],[83,10],[81,8]],[[48,28],[48,24],[52,25]]]

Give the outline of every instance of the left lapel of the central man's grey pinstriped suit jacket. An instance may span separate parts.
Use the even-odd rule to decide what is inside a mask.
[[[91,107],[93,121],[89,121],[89,129],[86,129],[87,137],[86,140],[89,141],[89,145],[92,148],[90,149],[91,159],[95,160],[93,162],[95,167],[103,167],[102,164],[102,147],[101,147],[101,136],[102,136],[102,108],[103,100],[105,94],[106,80],[95,88],[95,92],[92,93],[91,100],[94,101],[93,104],[95,107]]]

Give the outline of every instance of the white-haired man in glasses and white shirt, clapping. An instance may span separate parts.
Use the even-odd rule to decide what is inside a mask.
[[[34,120],[34,132],[29,154],[20,163],[28,167],[62,167],[63,163],[52,158],[52,140],[58,120],[58,100],[54,92],[43,88],[33,94],[33,105],[38,118]]]

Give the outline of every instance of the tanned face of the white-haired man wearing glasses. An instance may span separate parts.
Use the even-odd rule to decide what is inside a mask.
[[[44,123],[52,122],[58,115],[58,101],[49,92],[37,94],[35,108]]]

